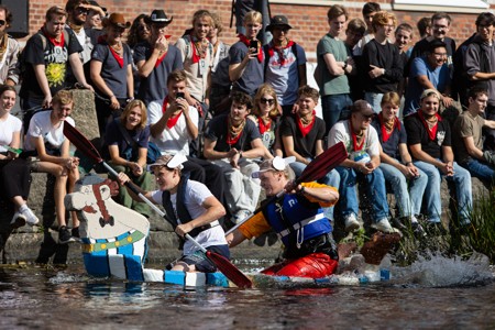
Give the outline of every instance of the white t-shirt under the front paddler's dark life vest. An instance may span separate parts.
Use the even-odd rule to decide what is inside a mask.
[[[160,205],[162,205],[162,195],[163,195],[162,190],[152,191],[153,200]],[[195,180],[187,182],[184,204],[193,219],[196,219],[206,212],[206,209],[202,207],[202,204],[205,202],[205,199],[207,199],[210,196],[213,195],[211,194],[210,190],[208,190],[207,186],[205,186],[204,184]],[[176,208],[177,194],[170,195],[170,201],[177,216],[177,208]],[[227,244],[226,232],[223,231],[221,226],[216,226],[213,228],[201,231],[195,238],[195,240],[204,248],[208,248],[211,245]],[[198,250],[199,249],[196,248],[196,245],[186,240],[186,243],[184,244],[184,255],[193,254]]]

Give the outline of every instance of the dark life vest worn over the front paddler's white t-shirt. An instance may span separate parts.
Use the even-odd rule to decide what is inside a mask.
[[[184,174],[180,176],[180,182],[177,187],[177,201],[176,201],[176,206],[175,206],[177,209],[177,215],[175,213],[174,207],[172,205],[170,191],[165,190],[165,191],[163,191],[163,195],[162,195],[162,205],[166,212],[165,220],[167,220],[172,224],[174,230],[179,223],[187,223],[193,220],[193,217],[189,215],[189,211],[187,210],[186,205],[185,205],[186,186],[187,186],[188,180],[189,180],[189,174]],[[177,217],[178,217],[178,219],[177,219]],[[179,222],[179,220],[180,220],[180,222]],[[216,226],[219,226],[218,220],[216,220],[211,223],[195,228],[189,232],[189,234],[193,238],[195,238],[201,231],[208,230]]]

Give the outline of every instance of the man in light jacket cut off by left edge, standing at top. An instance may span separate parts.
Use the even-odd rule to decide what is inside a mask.
[[[0,84],[14,86],[19,82],[19,43],[7,34],[11,22],[12,13],[7,7],[0,6]]]

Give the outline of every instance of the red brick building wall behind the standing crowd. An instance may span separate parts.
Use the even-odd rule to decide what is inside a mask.
[[[25,1],[25,0],[21,0]],[[46,10],[54,4],[65,6],[65,0],[30,0],[29,26],[30,33],[43,24]],[[174,15],[169,25],[173,42],[184,30],[190,28],[193,13],[198,9],[208,9],[223,18],[223,40],[228,43],[237,41],[235,19],[233,28],[229,28],[231,16],[231,0],[98,0],[109,12],[121,12],[132,21],[140,13],[151,13],[153,9],[164,9],[167,15]],[[332,4],[342,4],[351,18],[361,18],[361,9],[366,1],[326,1],[326,0],[272,0],[272,14],[285,14],[295,28],[292,37],[300,43],[308,53],[314,53],[319,38],[327,33],[327,11]],[[416,22],[422,16],[431,16],[435,11],[446,11],[453,22],[449,35],[462,42],[474,32],[474,21],[479,13],[493,11],[495,0],[375,0],[383,10],[397,15],[399,23]],[[415,41],[418,37],[415,31]],[[459,43],[460,44],[460,43]],[[312,57],[309,54],[310,57]]]

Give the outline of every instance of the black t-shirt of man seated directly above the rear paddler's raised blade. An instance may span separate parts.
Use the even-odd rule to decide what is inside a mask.
[[[287,116],[282,120],[280,136],[293,136],[294,151],[305,158],[316,157],[316,142],[323,140],[326,134],[324,121],[316,117],[315,125],[306,136],[299,130],[295,116]]]

